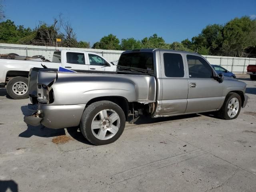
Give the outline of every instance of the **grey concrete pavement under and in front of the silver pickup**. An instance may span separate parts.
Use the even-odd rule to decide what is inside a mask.
[[[256,81],[238,78],[250,100],[237,119],[140,118],[105,146],[91,145],[76,128],[27,126],[29,100],[0,89],[0,192],[255,192]]]

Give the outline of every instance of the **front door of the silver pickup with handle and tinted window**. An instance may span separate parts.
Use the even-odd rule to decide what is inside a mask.
[[[188,106],[186,113],[217,110],[223,99],[223,83],[214,80],[210,64],[200,56],[186,55],[188,64]]]

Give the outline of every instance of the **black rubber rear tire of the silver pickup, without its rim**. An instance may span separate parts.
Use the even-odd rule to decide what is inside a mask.
[[[114,110],[120,118],[120,126],[116,134],[107,140],[100,140],[94,136],[91,129],[93,118],[102,110]],[[125,115],[124,111],[117,104],[110,101],[98,101],[90,104],[83,112],[80,121],[80,130],[83,136],[94,145],[106,145],[116,141],[123,133],[125,127]]]

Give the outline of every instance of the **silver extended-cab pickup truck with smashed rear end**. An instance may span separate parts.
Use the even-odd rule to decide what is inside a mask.
[[[34,110],[27,124],[59,129],[80,125],[95,145],[117,140],[128,115],[153,118],[216,111],[231,120],[245,107],[246,84],[217,74],[200,55],[173,50],[123,52],[116,72],[30,70]]]

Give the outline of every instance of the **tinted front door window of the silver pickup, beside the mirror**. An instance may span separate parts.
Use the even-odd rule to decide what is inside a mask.
[[[187,55],[190,78],[212,78],[212,68],[202,57]]]

